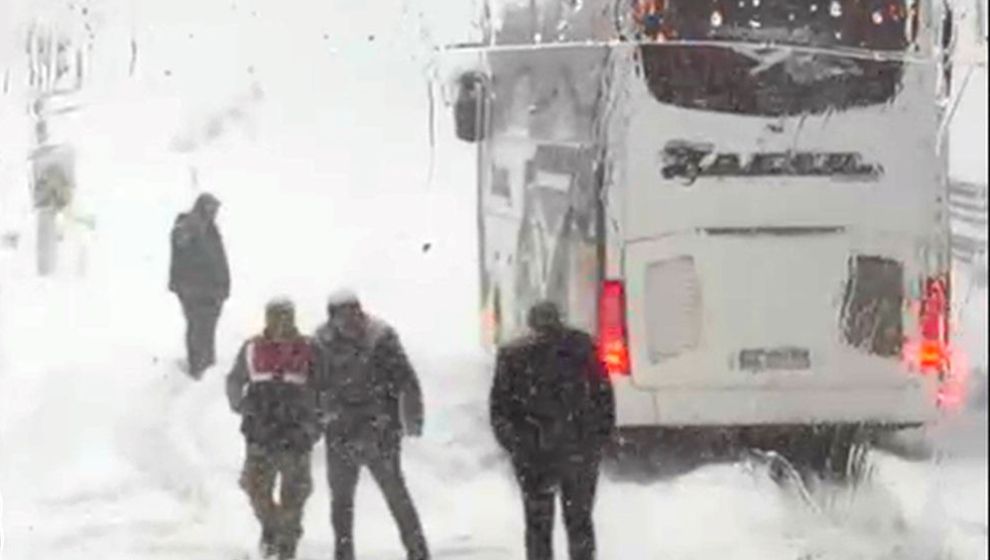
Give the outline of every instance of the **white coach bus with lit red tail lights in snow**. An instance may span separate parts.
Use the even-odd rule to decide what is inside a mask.
[[[940,1],[518,4],[462,51],[455,105],[486,343],[557,301],[597,334],[629,441],[935,417]]]

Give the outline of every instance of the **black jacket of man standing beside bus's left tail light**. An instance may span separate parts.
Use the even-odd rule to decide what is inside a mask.
[[[591,337],[560,328],[502,347],[490,415],[495,438],[516,461],[597,456],[615,424],[615,402]]]

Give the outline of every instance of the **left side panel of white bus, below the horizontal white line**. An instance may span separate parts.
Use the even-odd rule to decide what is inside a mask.
[[[593,331],[600,271],[596,140],[606,48],[490,52],[481,173],[482,320],[492,343],[550,299]]]

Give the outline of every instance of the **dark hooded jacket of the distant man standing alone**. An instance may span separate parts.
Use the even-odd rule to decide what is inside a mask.
[[[225,300],[230,295],[223,239],[205,211],[215,200],[201,195],[190,212],[176,217],[172,227],[168,288],[181,297]]]

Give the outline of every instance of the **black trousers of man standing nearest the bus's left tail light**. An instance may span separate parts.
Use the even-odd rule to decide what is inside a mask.
[[[515,457],[526,518],[527,560],[553,560],[554,506],[559,492],[571,560],[594,560],[592,510],[598,485],[596,456]]]

